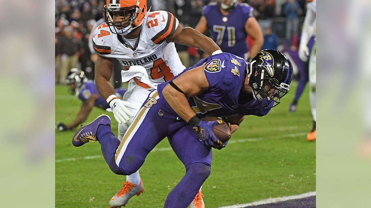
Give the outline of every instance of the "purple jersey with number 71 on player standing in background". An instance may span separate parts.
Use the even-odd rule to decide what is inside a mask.
[[[208,4],[204,7],[203,16],[211,30],[211,37],[221,50],[245,58],[249,51],[245,24],[247,19],[253,17],[253,7],[246,3],[237,4],[224,16],[218,4]]]

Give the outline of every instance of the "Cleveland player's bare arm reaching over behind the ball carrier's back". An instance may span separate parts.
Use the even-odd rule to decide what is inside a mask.
[[[204,36],[191,27],[183,28],[181,24],[179,24],[174,34],[167,39],[167,42],[199,48],[209,55],[214,51],[220,50],[220,47],[211,38]]]

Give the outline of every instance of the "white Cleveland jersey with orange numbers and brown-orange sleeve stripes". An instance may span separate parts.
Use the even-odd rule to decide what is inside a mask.
[[[185,69],[175,44],[166,42],[167,38],[174,34],[178,25],[179,21],[170,12],[147,12],[142,22],[138,46],[133,50],[121,35],[112,34],[108,25],[102,23],[92,35],[94,50],[101,56],[117,58],[127,69],[130,66],[143,66],[150,82],[160,84]],[[137,78],[134,80],[139,86],[150,88]]]

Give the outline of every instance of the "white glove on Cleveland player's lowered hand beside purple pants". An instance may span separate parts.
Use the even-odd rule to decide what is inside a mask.
[[[129,117],[134,117],[134,115],[128,108],[137,109],[135,105],[129,103],[128,101],[120,100],[118,98],[112,100],[109,103],[109,106],[111,107],[111,110],[114,113],[114,117],[119,124],[126,124],[126,122],[129,121]]]

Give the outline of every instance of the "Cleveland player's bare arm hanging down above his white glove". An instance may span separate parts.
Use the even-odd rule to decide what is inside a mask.
[[[95,63],[95,84],[102,98],[115,94],[115,89],[110,83],[112,76],[113,59],[99,56]]]

